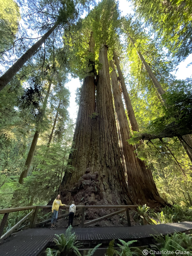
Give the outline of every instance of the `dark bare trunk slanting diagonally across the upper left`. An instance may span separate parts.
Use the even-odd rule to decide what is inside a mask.
[[[56,23],[45,35],[39,39],[31,48],[29,48],[23,55],[20,57],[12,67],[10,67],[2,77],[0,77],[0,91],[7,85],[8,82],[15,76],[15,74],[23,67],[26,61],[28,61],[38,50],[38,48],[45,42],[45,40],[51,35],[51,33],[56,29],[59,23]]]

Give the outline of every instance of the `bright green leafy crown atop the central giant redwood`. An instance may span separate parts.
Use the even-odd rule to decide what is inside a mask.
[[[119,38],[119,17],[117,3],[104,0],[82,20],[79,31],[70,31],[70,68],[74,75],[83,79],[98,73],[101,69],[98,59],[102,45],[108,46],[112,59],[112,52]]]

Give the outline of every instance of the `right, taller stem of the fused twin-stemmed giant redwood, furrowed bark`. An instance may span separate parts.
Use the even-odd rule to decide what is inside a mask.
[[[98,138],[95,137],[95,144],[98,156],[95,159],[99,160],[97,169],[103,186],[102,197],[105,204],[129,203],[131,200],[120,159],[106,45],[100,49],[99,62],[103,65],[97,84]]]

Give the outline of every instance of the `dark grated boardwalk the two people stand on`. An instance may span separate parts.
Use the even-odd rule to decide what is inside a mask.
[[[192,222],[133,226],[133,227],[87,227],[73,228],[77,240],[83,243],[109,243],[113,239],[142,240],[155,234],[186,232],[192,229]],[[66,228],[50,230],[48,228],[26,229],[12,235],[0,245],[0,256],[37,256],[55,234],[65,233]]]

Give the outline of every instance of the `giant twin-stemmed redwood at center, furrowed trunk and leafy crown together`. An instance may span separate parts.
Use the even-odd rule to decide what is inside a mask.
[[[80,197],[83,192],[77,193],[77,191],[81,191],[84,187],[84,179],[90,179],[91,186],[91,175],[95,175],[97,190],[93,193],[90,193],[89,189],[84,190],[86,200],[82,202],[97,201],[105,204],[122,204],[123,202],[129,204],[131,202],[120,159],[107,54],[110,31],[113,31],[110,26],[113,26],[112,24],[117,16],[118,10],[115,2],[108,0],[95,7],[85,19],[90,19],[92,22],[91,28],[88,27],[87,31],[90,31],[91,37],[93,36],[95,40],[95,52],[92,54],[92,59],[88,57],[89,61],[85,69],[91,66],[92,75],[96,74],[94,72],[96,67],[93,56],[98,56],[98,54],[99,63],[102,64],[102,67],[100,65],[98,71],[96,101],[94,77],[87,76],[83,81],[73,138],[74,153],[72,152],[70,155],[70,158],[72,158],[71,164],[75,167],[75,170],[71,174],[66,173],[61,184],[63,196],[67,201],[74,193],[77,197],[76,200],[81,201]],[[92,45],[91,40],[89,40],[90,45]],[[81,164],[77,169],[78,162],[82,163],[80,156],[84,151],[84,164]],[[79,188],[73,190],[74,186],[77,187],[76,184],[79,184],[77,185]]]

